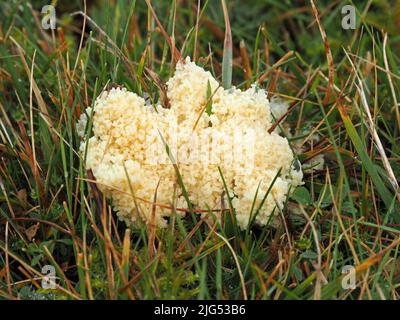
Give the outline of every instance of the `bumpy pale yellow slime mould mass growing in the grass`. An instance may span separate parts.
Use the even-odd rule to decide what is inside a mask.
[[[86,168],[92,169],[118,216],[127,224],[138,219],[152,222],[155,195],[158,226],[165,226],[172,205],[187,208],[164,140],[196,208],[221,208],[221,168],[242,228],[248,224],[256,193],[254,208],[281,170],[256,218],[258,224],[266,224],[289,190],[302,184],[303,174],[293,168],[287,139],[268,133],[273,118],[265,91],[255,86],[224,90],[210,72],[188,58],[177,64],[167,87],[170,109],[148,106],[143,98],[120,88],[103,92],[95,102],[93,136],[83,138],[81,152],[87,148]],[[211,115],[204,112],[210,101]],[[86,113],[90,115],[91,109]],[[86,121],[83,116],[78,123],[81,136]],[[177,201],[172,204],[174,194]]]

